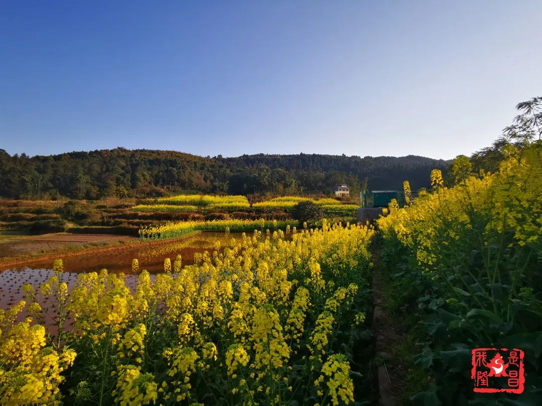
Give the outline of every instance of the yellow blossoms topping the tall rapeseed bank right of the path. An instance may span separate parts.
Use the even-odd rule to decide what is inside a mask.
[[[472,175],[452,188],[442,187],[440,171],[432,171],[433,193],[401,209],[392,203],[389,215],[378,220],[384,238],[397,238],[411,248],[427,271],[444,264],[443,246],[464,238],[475,222],[485,245],[498,244],[507,231],[513,232],[512,245],[537,244],[542,235],[542,146],[535,143],[521,153],[508,149],[499,172]]]

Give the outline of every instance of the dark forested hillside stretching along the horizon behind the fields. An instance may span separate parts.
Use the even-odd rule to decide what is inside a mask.
[[[431,169],[446,161],[421,156],[243,155],[204,158],[175,151],[95,150],[60,155],[9,155],[0,150],[0,197],[43,199],[48,195],[98,199],[156,196],[169,191],[205,193],[324,193],[346,183],[357,193],[370,188],[429,186]]]

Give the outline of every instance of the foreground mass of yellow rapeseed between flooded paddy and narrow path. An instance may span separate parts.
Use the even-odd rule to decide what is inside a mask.
[[[61,372],[75,357],[69,346],[81,354],[69,376],[78,377],[73,387],[83,403],[106,396],[122,405],[214,403],[224,389],[233,404],[283,404],[294,388],[302,390],[295,374],[320,371],[327,354],[337,353],[338,347],[330,351],[335,320],[356,322],[351,305],[358,283],[367,280],[373,234],[324,221],[288,239],[259,230],[228,235],[193,265],[167,259],[164,272],[151,276],[134,260],[137,283],[102,270],[80,274],[69,294],[59,262],[46,284],[25,292],[36,314],[48,312],[38,304],[39,295],[48,295],[73,328],[51,341],[44,325],[15,323],[24,302],[0,311],[2,402],[61,401]],[[294,366],[301,368],[295,374]],[[90,369],[100,374],[85,373]],[[303,379],[306,387],[314,378]]]

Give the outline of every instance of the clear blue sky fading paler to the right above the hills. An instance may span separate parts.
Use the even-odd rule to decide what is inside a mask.
[[[0,1],[0,148],[449,159],[542,96],[542,1]]]

